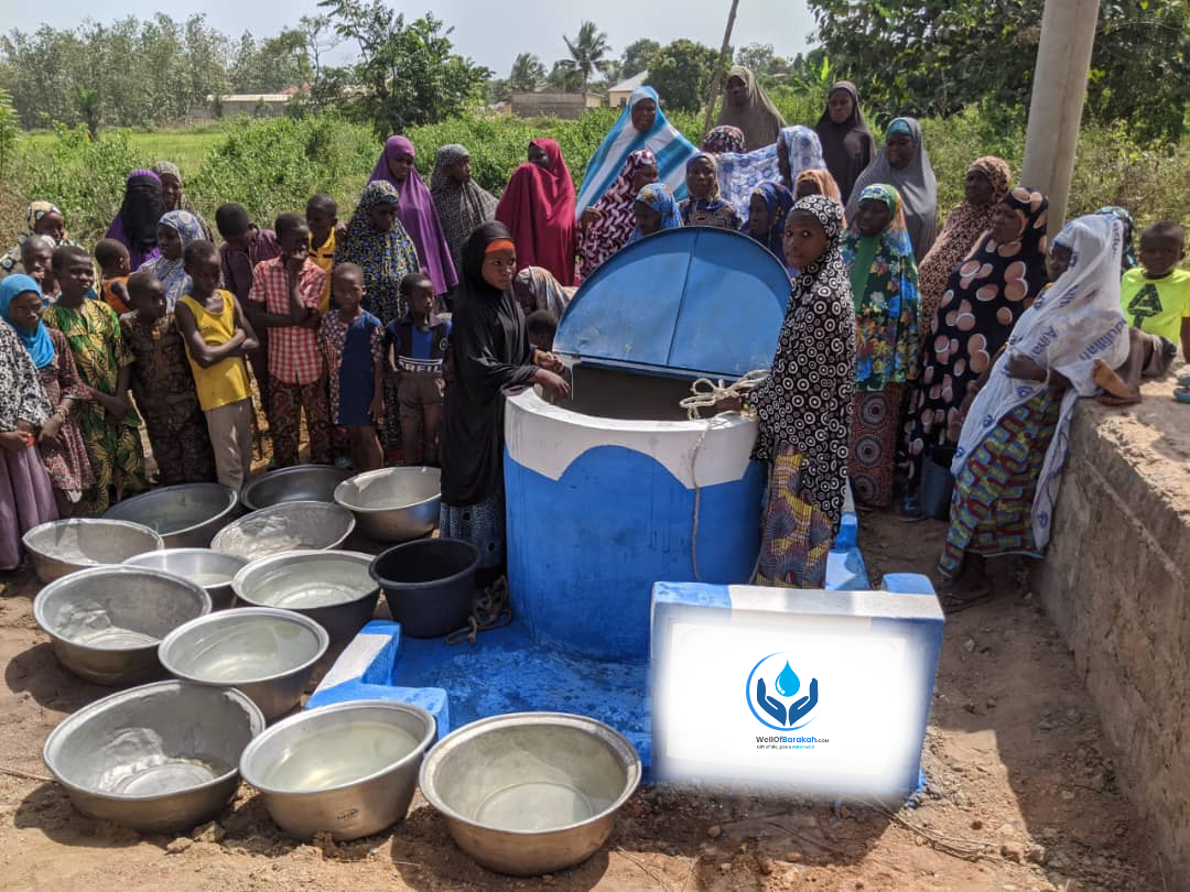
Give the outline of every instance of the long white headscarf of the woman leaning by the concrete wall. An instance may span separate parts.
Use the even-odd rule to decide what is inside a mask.
[[[1091,377],[1096,359],[1115,369],[1128,358],[1128,322],[1120,312],[1120,255],[1123,226],[1111,216],[1073,220],[1054,239],[1071,251],[1070,266],[1016,320],[1008,348],[967,412],[951,472],[958,477],[971,453],[1008,413],[1040,394],[1046,384],[1008,375],[1012,356],[1023,356],[1070,379],[1053,440],[1046,450],[1033,500],[1033,539],[1038,549],[1050,541],[1050,523],[1066,460],[1070,417],[1081,396],[1098,388]]]

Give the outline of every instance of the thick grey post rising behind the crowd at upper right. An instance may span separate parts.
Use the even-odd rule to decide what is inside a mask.
[[[1100,0],[1046,0],[1041,14],[1021,183],[1050,199],[1051,233],[1066,216],[1098,18]]]

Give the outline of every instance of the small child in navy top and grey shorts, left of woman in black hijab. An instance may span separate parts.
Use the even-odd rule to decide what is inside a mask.
[[[411,272],[401,279],[401,296],[409,312],[389,323],[387,337],[392,351],[389,369],[399,375],[396,398],[401,407],[402,457],[406,465],[415,464],[420,444],[421,463],[434,465],[445,387],[443,357],[450,339],[450,322],[433,315],[434,287],[421,272]]]

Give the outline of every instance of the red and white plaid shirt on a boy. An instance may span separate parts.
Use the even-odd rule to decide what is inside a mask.
[[[302,306],[317,309],[325,285],[326,274],[307,258],[298,274],[298,297]],[[265,313],[289,315],[289,275],[283,258],[256,264],[249,300],[263,306]],[[284,384],[312,384],[321,378],[318,329],[302,326],[270,328],[269,377]]]

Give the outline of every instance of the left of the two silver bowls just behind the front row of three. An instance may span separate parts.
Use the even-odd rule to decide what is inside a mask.
[[[201,585],[144,567],[90,567],[46,585],[33,618],[58,662],[101,685],[130,685],[165,674],[157,645],[183,622],[211,613]]]

